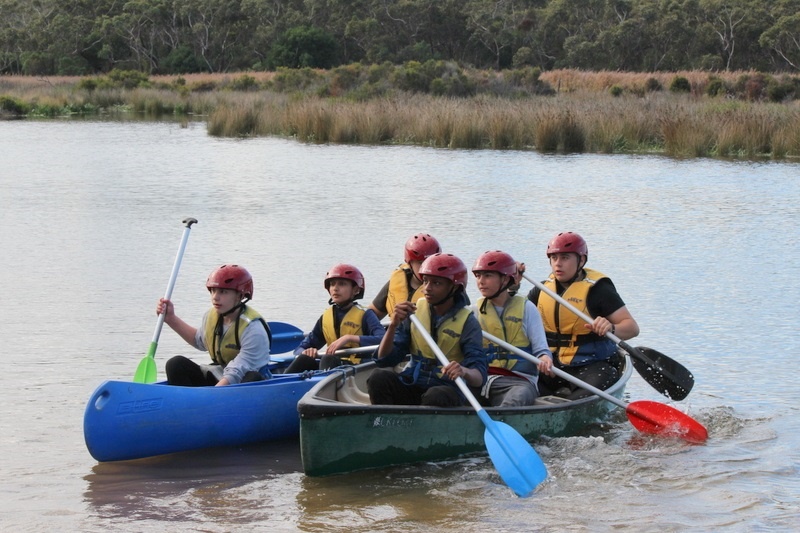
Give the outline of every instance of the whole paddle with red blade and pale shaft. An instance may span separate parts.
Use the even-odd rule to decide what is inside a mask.
[[[509,350],[520,357],[524,357],[534,364],[538,364],[539,360],[528,352],[509,344],[491,333],[483,332],[483,337],[489,341]],[[585,381],[581,381],[572,374],[568,374],[560,368],[553,367],[553,373],[570,383],[586,389],[597,396],[608,400],[609,402],[618,405],[625,409],[625,414],[628,415],[628,420],[631,421],[633,427],[642,433],[651,433],[654,435],[664,435],[667,437],[680,437],[692,444],[701,444],[708,438],[708,431],[702,424],[695,419],[681,413],[677,409],[665,405],[663,403],[651,402],[641,400],[632,403],[625,403],[619,398],[616,398],[609,393],[589,385]]]

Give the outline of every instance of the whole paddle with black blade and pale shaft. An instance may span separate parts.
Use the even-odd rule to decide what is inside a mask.
[[[548,289],[544,284],[531,279],[525,274],[523,274],[522,277],[539,287],[541,291],[550,295],[558,303],[578,315],[585,322],[589,324],[594,322],[592,317],[582,313],[578,308]],[[664,396],[673,400],[683,400],[689,394],[689,391],[692,390],[692,387],[694,387],[694,376],[692,376],[692,373],[689,372],[686,367],[677,361],[670,359],[652,348],[634,348],[610,331],[606,333],[606,337],[614,341],[617,346],[621,347],[631,356],[633,367],[639,375]]]

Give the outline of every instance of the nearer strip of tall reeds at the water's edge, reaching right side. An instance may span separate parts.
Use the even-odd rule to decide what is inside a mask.
[[[671,94],[572,94],[529,100],[404,95],[351,102],[260,93],[216,108],[209,133],[281,135],[303,142],[412,144],[559,153],[677,157],[800,157],[800,106],[720,106]]]

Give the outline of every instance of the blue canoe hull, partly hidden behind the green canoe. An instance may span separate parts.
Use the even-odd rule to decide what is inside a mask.
[[[122,461],[297,437],[297,402],[326,375],[226,387],[106,381],[86,406],[86,447],[98,461]]]

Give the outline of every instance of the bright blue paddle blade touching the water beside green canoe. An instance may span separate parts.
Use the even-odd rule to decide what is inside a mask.
[[[517,496],[527,498],[547,477],[539,454],[508,424],[492,421],[483,439],[495,469]]]

